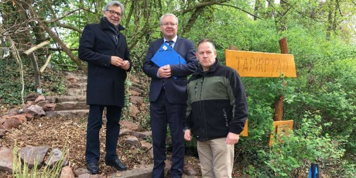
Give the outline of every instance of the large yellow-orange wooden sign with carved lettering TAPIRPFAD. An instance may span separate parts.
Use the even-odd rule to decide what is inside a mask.
[[[225,50],[225,58],[241,77],[297,77],[293,54]]]

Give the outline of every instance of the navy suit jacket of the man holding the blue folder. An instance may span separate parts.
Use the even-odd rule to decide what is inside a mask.
[[[187,101],[185,92],[187,76],[192,74],[198,66],[194,44],[192,41],[178,36],[173,49],[187,61],[187,64],[170,65],[172,76],[177,76],[177,78],[169,77],[163,79],[157,77],[159,66],[151,61],[151,58],[160,49],[163,42],[163,38],[161,38],[150,43],[146,60],[143,64],[143,72],[152,78],[149,87],[149,101],[154,102],[157,100],[164,83],[168,101],[172,104],[185,104]]]

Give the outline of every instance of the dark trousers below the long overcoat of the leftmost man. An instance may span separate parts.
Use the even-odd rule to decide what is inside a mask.
[[[118,155],[116,148],[120,133],[121,109],[119,106],[90,105],[88,123],[86,128],[85,160],[87,162],[98,162],[100,159],[99,131],[102,124],[102,115],[106,107],[106,143],[105,160],[115,160]]]

